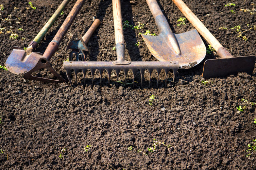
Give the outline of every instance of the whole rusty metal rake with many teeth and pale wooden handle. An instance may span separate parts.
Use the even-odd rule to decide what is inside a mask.
[[[124,71],[125,80],[124,83],[126,83],[126,75],[128,70],[132,70],[133,72],[133,85],[134,85],[134,76],[135,72],[139,69],[140,75],[141,75],[141,86],[142,86],[142,79],[144,76],[144,71],[148,69],[150,80],[151,80],[151,73],[154,69],[157,71],[157,86],[159,81],[159,73],[162,69],[165,70],[166,75],[166,82],[165,85],[167,86],[167,74],[170,69],[172,69],[174,78],[176,75],[176,72],[179,68],[179,64],[176,61],[166,61],[166,62],[140,62],[140,61],[127,61],[124,59],[124,36],[123,36],[123,26],[122,26],[122,16],[121,16],[121,3],[120,0],[112,0],[113,3],[113,16],[114,16],[114,27],[115,27],[115,41],[116,41],[116,54],[117,54],[117,60],[113,62],[105,62],[105,61],[65,61],[64,62],[64,69],[66,70],[68,80],[71,84],[71,71],[73,70],[75,73],[75,79],[77,78],[77,74],[80,70],[83,72],[84,76],[84,84],[85,84],[85,74],[87,72],[87,69],[90,70],[91,76],[92,76],[92,83],[93,83],[93,76],[95,74],[96,69],[99,70],[100,73],[100,83],[102,82],[102,73],[106,69],[108,73],[108,84],[110,83],[110,74],[111,71],[114,69],[116,71],[117,75],[117,81],[118,81],[118,75],[120,70]],[[174,79],[173,78],[173,79]],[[76,80],[75,80],[76,81]],[[149,81],[150,84],[150,81]],[[71,84],[72,85],[72,84]]]

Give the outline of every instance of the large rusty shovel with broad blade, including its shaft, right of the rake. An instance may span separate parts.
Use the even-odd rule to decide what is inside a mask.
[[[174,34],[156,0],[146,0],[155,23],[158,36],[141,34],[151,54],[159,61],[177,61],[181,68],[199,64],[206,55],[206,48],[197,30]]]

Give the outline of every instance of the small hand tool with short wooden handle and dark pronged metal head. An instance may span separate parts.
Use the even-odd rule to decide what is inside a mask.
[[[84,54],[84,51],[88,51],[86,44],[99,25],[100,20],[95,19],[82,38],[79,35],[78,30],[75,31],[66,48],[66,50],[72,49],[72,51],[69,53],[69,61],[72,61],[73,55],[75,55],[75,61],[79,61],[79,58],[82,58],[82,61],[86,61]]]

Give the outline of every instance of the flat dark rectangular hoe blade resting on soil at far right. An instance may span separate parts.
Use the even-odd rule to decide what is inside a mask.
[[[251,74],[254,64],[255,56],[206,60],[204,63],[203,78],[224,77],[238,72]]]

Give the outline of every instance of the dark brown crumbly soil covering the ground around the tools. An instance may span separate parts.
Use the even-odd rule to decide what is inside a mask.
[[[231,29],[237,25],[241,29],[253,27],[256,15],[240,9],[256,8],[255,1],[234,0],[236,6],[224,7],[228,2],[185,0],[234,56],[255,55],[255,29],[243,33],[247,41],[237,37],[237,31]],[[11,29],[19,35],[17,40],[9,40],[11,33],[6,32],[8,29],[2,30],[1,65],[5,64],[14,46],[23,48],[33,40],[61,0],[33,0],[32,3],[37,7],[35,10],[26,0],[1,0],[4,10],[0,12],[0,27],[12,26]],[[35,51],[44,52],[74,3],[75,0],[70,2]],[[141,30],[124,29],[125,55],[130,61],[156,61],[138,33],[148,29],[158,34],[157,27],[146,1],[137,0],[136,3],[122,1],[123,21],[128,20],[131,25],[145,24]],[[159,3],[174,33],[193,29],[188,21],[186,25],[177,26],[178,18],[184,16],[172,1],[160,0]],[[76,29],[84,34],[93,16],[102,24],[87,46],[88,60],[116,59],[112,50],[115,46],[112,2],[86,1],[51,59],[53,67],[65,78],[66,43]],[[18,31],[20,27],[24,31]],[[134,45],[136,42],[140,42],[139,47]],[[205,59],[216,57],[213,52]],[[178,70],[175,86],[171,85],[173,75],[169,73],[167,88],[164,88],[164,72],[160,75],[159,88],[156,88],[156,72],[151,88],[148,88],[147,73],[142,88],[139,88],[140,83],[135,87],[116,84],[115,75],[110,86],[107,86],[106,77],[104,85],[100,86],[99,75],[91,85],[89,73],[85,87],[81,74],[78,83],[70,87],[67,83],[23,82],[19,76],[1,69],[0,149],[5,152],[0,153],[0,169],[255,169],[255,153],[251,157],[245,155],[247,145],[256,138],[253,124],[256,107],[247,104],[240,113],[236,107],[246,104],[242,98],[256,102],[256,70],[252,75],[238,73],[210,79],[205,85],[201,83],[204,80],[201,77],[203,63]],[[44,70],[38,74],[46,76]],[[120,76],[123,81],[122,72]],[[131,72],[129,79],[132,79]],[[139,72],[135,81],[140,82]],[[152,94],[156,99],[151,106],[148,103]],[[153,152],[148,151],[153,147],[154,139],[166,146],[159,144]],[[86,152],[87,145],[91,147]],[[130,146],[132,150],[127,149]],[[62,152],[63,148],[66,148],[65,152]],[[59,158],[60,154],[63,158]]]

